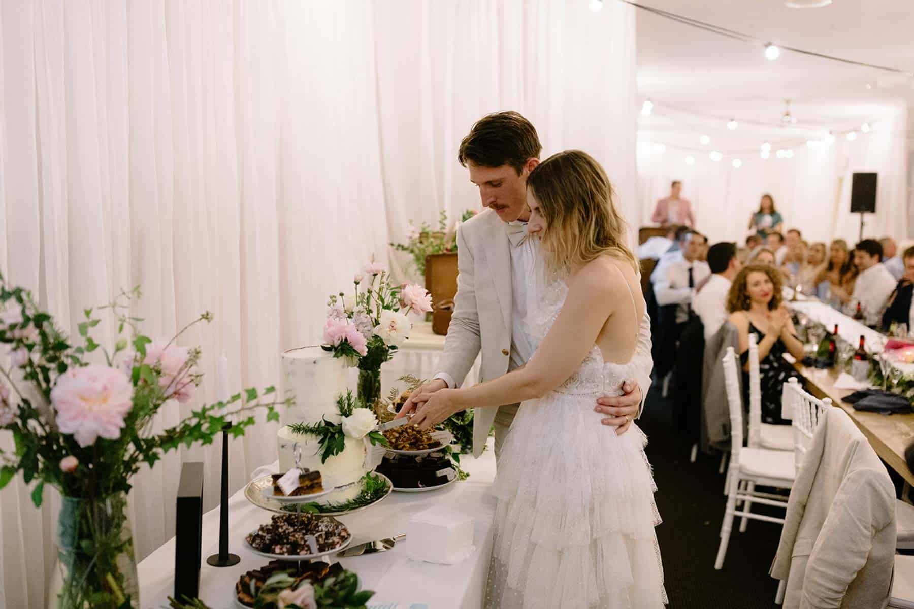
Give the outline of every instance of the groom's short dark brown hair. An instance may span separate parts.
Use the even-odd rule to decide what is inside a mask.
[[[519,175],[528,159],[538,159],[543,145],[537,130],[519,113],[509,110],[486,114],[460,142],[457,160],[464,167],[511,165]]]

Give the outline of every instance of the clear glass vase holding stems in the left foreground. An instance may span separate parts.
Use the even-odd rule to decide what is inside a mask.
[[[127,495],[64,497],[48,609],[139,609]]]

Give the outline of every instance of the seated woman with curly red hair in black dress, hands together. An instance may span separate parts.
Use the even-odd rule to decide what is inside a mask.
[[[781,302],[781,273],[768,265],[750,265],[739,271],[727,295],[730,323],[739,331],[739,357],[743,362],[743,389],[749,402],[749,332],[759,345],[761,421],[790,425],[781,418],[781,385],[799,376],[783,358],[790,352],[802,360],[802,342],[793,330],[791,314]]]

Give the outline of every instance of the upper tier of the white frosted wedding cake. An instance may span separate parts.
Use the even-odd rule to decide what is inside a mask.
[[[326,418],[339,423],[336,399],[346,392],[347,371],[343,358],[335,358],[320,347],[301,347],[282,353],[285,389],[295,396],[295,405],[288,410],[288,422],[314,425]]]

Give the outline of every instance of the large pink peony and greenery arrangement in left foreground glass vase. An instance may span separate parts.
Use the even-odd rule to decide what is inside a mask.
[[[16,444],[13,453],[0,450],[0,488],[21,472],[33,484],[37,508],[46,486],[63,496],[48,595],[60,609],[140,606],[126,507],[130,480],[143,464],[153,467],[182,444],[211,443],[229,409],[230,433],[237,437],[254,425],[255,410],[278,421],[276,406],[291,404],[272,387],[246,389],[153,433],[162,406],[188,402],[202,378],[200,350],[175,340],[213,316],[203,313],[173,338],[153,340],[139,331],[142,320],[129,316],[130,300],[139,296],[139,289],[122,292],[100,308],[118,325],[119,339],[109,350],[92,339],[101,322],[94,310],[84,310],[76,344],[26,289],[0,276],[0,342],[12,356],[10,368],[0,367],[0,430],[12,433]]]

